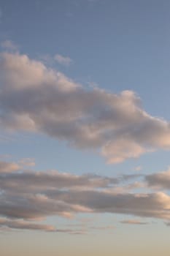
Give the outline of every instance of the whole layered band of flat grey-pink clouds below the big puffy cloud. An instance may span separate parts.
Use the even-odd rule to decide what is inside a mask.
[[[36,222],[52,216],[71,218],[79,213],[112,213],[159,218],[166,222],[170,220],[170,196],[154,190],[146,192],[146,187],[143,187],[144,192],[136,192],[138,187],[133,183],[129,184],[129,180],[133,181],[134,176],[75,176],[55,170],[15,170],[12,166],[15,166],[15,163],[1,163],[0,227],[54,231],[55,227]],[[147,180],[150,176],[143,178]],[[124,186],[125,189],[119,191],[118,186]],[[134,192],[131,192],[131,187]],[[81,230],[75,232],[81,233]],[[68,233],[72,233],[71,230]]]

